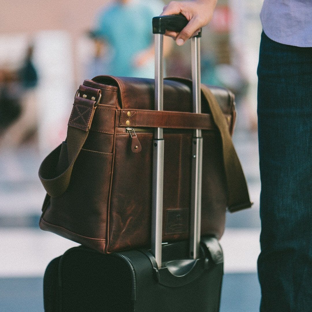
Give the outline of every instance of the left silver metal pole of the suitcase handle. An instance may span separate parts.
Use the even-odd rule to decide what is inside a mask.
[[[155,110],[163,110],[163,35],[155,34]],[[153,141],[151,251],[161,267],[163,230],[163,128],[156,128]]]

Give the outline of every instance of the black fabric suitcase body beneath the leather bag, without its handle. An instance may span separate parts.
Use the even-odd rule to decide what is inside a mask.
[[[184,255],[183,255],[184,253]],[[55,258],[44,275],[46,312],[217,312],[223,256],[214,237],[202,237],[200,263],[192,273],[188,242],[163,246],[160,270],[148,251],[103,255],[84,246]],[[164,272],[161,272],[161,271]],[[160,271],[160,272],[159,272]],[[163,275],[163,276],[159,276]]]

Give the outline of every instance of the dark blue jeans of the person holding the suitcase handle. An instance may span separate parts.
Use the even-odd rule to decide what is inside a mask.
[[[312,47],[261,36],[261,312],[312,311]]]

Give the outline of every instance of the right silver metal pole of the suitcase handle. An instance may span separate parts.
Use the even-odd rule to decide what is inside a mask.
[[[201,113],[200,88],[200,38],[191,39],[192,49],[192,80],[193,80],[193,113]],[[202,201],[202,131],[196,129],[192,141],[192,188],[191,188],[191,228],[190,257],[199,256],[201,232],[201,201]]]

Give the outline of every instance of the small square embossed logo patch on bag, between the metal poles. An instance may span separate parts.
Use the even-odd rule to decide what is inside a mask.
[[[166,210],[165,235],[188,232],[188,208]]]

